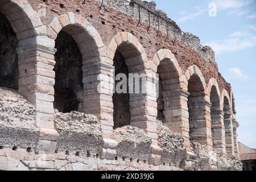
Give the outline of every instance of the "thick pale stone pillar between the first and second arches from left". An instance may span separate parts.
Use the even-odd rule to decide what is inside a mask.
[[[54,126],[54,84],[55,72],[53,71],[56,50],[54,41],[43,38],[44,43],[51,46],[41,46],[38,38],[37,44],[26,45],[23,40],[17,48],[19,59],[19,93],[27,98],[36,109],[36,127],[39,129],[36,152],[55,152],[56,140],[59,137]],[[53,45],[52,45],[53,44]]]

